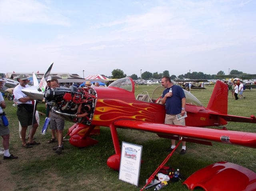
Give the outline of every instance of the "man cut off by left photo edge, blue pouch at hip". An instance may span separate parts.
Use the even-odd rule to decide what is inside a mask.
[[[0,89],[3,88],[4,80],[0,76]],[[4,97],[0,94],[0,136],[3,138],[3,147],[4,147],[4,159],[18,159],[14,155],[9,153],[9,138],[10,138],[10,129],[8,125],[4,125],[2,116],[5,114],[3,109],[6,108],[6,103]]]

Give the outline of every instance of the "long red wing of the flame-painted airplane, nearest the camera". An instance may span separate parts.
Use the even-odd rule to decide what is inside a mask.
[[[114,125],[119,128],[148,131],[160,135],[174,135],[178,137],[187,137],[188,139],[202,139],[207,141],[243,145],[247,147],[256,147],[256,133],[150,123],[134,120],[118,120],[114,122]]]

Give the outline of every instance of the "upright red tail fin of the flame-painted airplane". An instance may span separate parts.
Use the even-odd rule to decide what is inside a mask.
[[[206,108],[221,114],[228,113],[228,87],[220,80],[216,82]]]

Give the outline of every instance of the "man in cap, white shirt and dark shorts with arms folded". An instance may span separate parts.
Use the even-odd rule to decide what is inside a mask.
[[[21,139],[22,139],[22,147],[25,148],[31,148],[32,145],[38,145],[40,143],[37,143],[34,141],[34,134],[36,133],[36,129],[38,127],[38,123],[36,122],[36,117],[33,116],[34,107],[32,104],[32,98],[26,96],[21,90],[24,88],[28,88],[28,78],[25,74],[20,74],[18,77],[18,81],[20,84],[14,88],[13,94],[15,98],[17,99],[17,116],[18,120],[20,121],[21,128]],[[30,136],[28,139],[28,142],[26,143],[26,130],[28,128],[28,125],[32,125],[32,120],[34,117],[34,124],[30,132]]]

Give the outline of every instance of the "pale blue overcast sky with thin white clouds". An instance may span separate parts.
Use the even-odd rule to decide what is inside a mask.
[[[0,0],[0,72],[256,74],[255,0]]]

